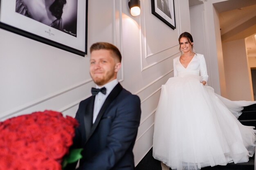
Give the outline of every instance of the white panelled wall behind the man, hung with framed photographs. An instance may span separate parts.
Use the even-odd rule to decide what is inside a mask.
[[[179,55],[177,39],[190,31],[187,0],[175,0],[175,15],[173,30],[151,14],[151,0],[141,0],[137,17],[130,15],[128,1],[89,0],[88,48],[98,41],[115,44],[123,56],[118,79],[141,99],[136,165],[152,147],[161,85],[173,76]],[[74,116],[90,96],[90,54],[81,57],[2,29],[0,48],[0,120],[45,109]]]

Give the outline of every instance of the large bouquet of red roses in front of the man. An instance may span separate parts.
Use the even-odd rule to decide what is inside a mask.
[[[51,110],[0,122],[0,170],[61,170],[76,126]]]

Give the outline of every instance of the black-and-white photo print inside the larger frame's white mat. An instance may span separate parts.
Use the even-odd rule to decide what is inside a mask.
[[[76,37],[77,0],[16,0],[16,12]]]

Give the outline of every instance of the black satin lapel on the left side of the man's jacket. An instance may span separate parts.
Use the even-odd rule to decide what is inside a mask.
[[[84,114],[84,117],[83,117],[84,124],[85,124],[86,140],[89,138],[90,131],[91,131],[91,128],[92,128],[94,100],[95,100],[95,96],[90,97],[89,102],[86,105],[85,114]]]

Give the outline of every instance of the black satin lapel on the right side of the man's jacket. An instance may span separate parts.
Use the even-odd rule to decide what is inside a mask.
[[[112,103],[112,101],[117,97],[117,95],[122,91],[123,87],[121,86],[120,83],[118,83],[113,90],[110,92],[108,97],[106,98],[105,102],[103,103],[101,110],[99,110],[99,114],[92,125],[90,135],[88,136],[87,140],[90,138],[90,136],[93,134],[94,130],[97,128],[99,121],[101,120],[101,117],[103,116],[105,110],[108,108],[108,106]],[[93,107],[92,107],[93,108]],[[93,109],[92,109],[93,112]]]

